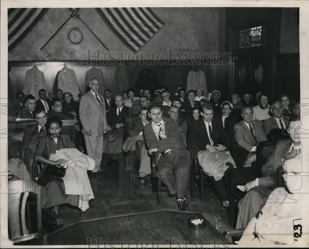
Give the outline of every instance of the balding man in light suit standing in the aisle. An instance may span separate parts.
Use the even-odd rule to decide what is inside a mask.
[[[98,94],[99,81],[90,80],[90,91],[85,93],[79,103],[79,118],[83,126],[87,155],[95,160],[91,171],[95,178],[103,177],[100,164],[103,154],[103,134],[107,132],[104,98]]]

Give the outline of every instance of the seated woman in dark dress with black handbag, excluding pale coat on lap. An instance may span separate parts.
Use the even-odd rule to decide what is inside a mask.
[[[58,207],[61,204],[78,205],[78,196],[65,194],[65,185],[59,176],[61,173],[63,175],[64,169],[62,167],[67,167],[66,160],[52,161],[48,159],[57,150],[75,148],[75,144],[70,140],[70,137],[67,134],[61,133],[61,127],[62,121],[60,119],[51,118],[47,120],[47,136],[41,139],[34,152],[36,160],[43,165],[42,171],[39,174],[39,181],[40,185],[45,185],[45,188],[41,188],[41,198],[46,201],[42,203],[42,208],[52,207],[53,211],[57,214]],[[56,167],[60,169],[59,172],[57,172]]]

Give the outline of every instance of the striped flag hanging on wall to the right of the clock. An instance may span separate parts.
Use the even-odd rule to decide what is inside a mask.
[[[164,22],[150,8],[95,8],[116,36],[136,52]]]

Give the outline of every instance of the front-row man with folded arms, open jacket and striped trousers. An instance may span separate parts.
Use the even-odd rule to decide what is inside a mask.
[[[156,175],[167,186],[172,195],[176,194],[178,209],[186,211],[186,208],[191,205],[190,198],[185,195],[188,192],[188,169],[181,167],[181,165],[175,169],[175,159],[177,160],[177,158],[170,154],[171,149],[177,150],[178,159],[188,160],[184,141],[180,137],[176,122],[170,118],[163,120],[160,107],[151,107],[148,116],[151,120],[145,126],[144,134],[149,153],[157,152],[158,171]],[[175,170],[176,177],[174,175]]]

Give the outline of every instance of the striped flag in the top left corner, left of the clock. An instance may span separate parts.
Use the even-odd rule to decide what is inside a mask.
[[[31,31],[48,10],[49,8],[10,8],[7,10],[9,51]]]

